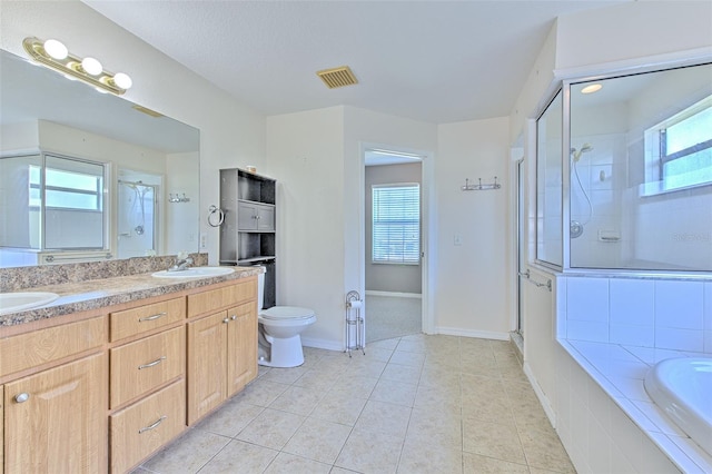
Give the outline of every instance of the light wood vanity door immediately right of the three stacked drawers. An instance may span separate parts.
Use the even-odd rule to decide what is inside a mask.
[[[227,397],[227,312],[188,324],[188,425]]]

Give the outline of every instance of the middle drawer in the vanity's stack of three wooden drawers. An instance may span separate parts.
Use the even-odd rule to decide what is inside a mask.
[[[110,364],[115,408],[185,372],[185,326],[111,349]]]

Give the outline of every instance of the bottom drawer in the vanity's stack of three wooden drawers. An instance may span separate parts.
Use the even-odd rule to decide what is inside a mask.
[[[185,379],[118,412],[110,424],[111,472],[123,473],[185,429]]]

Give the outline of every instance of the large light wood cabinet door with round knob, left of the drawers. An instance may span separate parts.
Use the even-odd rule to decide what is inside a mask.
[[[4,387],[8,473],[107,471],[107,367],[103,354]]]

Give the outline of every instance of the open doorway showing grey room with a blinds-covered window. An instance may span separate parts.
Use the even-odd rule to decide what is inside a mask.
[[[423,156],[364,150],[366,343],[423,332]]]

